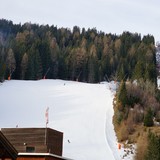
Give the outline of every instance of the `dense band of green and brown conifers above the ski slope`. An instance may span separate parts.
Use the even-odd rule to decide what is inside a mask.
[[[106,34],[0,20],[0,80],[67,79],[97,83],[143,78],[156,82],[154,37]]]

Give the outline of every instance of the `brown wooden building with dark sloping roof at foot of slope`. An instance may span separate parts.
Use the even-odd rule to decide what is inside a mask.
[[[2,128],[0,160],[69,160],[62,157],[63,133],[50,128]]]

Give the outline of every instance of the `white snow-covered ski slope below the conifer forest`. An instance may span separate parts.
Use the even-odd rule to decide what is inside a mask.
[[[112,124],[114,83],[63,80],[5,81],[0,85],[0,127],[48,127],[64,133],[63,156],[121,160]],[[133,155],[124,158],[132,160]]]

